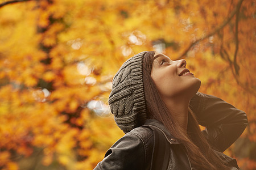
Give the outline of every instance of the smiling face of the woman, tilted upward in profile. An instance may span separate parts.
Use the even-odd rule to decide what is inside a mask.
[[[151,77],[162,97],[192,97],[199,90],[201,81],[186,69],[185,59],[172,61],[155,52]]]

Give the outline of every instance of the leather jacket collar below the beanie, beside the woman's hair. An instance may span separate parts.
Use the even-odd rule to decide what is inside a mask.
[[[163,132],[163,134],[166,136],[167,138],[167,141],[171,144],[180,144],[181,142],[176,139],[165,127],[164,125],[157,121],[157,120],[154,120],[154,119],[148,119],[146,120],[146,122],[144,123],[143,125],[144,127],[152,127],[152,128],[158,128],[160,131]],[[143,127],[142,126],[142,127]]]

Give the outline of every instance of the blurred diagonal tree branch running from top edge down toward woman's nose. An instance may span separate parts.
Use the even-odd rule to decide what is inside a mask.
[[[181,59],[183,58],[187,53],[188,51],[192,48],[192,46],[194,46],[197,42],[200,42],[204,39],[207,39],[209,38],[210,36],[213,36],[215,33],[219,32],[222,28],[224,28],[226,26],[226,24],[228,24],[230,22],[230,20],[233,18],[233,16],[237,13],[237,11],[240,10],[240,7],[242,5],[242,2],[243,0],[240,0],[238,3],[237,3],[237,6],[236,8],[234,9],[234,11],[232,11],[232,13],[230,14],[229,18],[225,20],[225,22],[223,22],[220,27],[216,28],[213,32],[209,33],[208,35],[204,36],[204,37],[201,37],[200,39],[197,39],[196,41],[192,42],[187,49],[184,50],[184,52],[180,55],[179,58],[177,59]]]

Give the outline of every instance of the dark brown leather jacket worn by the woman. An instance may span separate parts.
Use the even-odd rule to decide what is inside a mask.
[[[199,124],[205,126],[203,134],[216,154],[232,169],[239,169],[236,160],[223,154],[245,130],[247,117],[218,97],[197,92],[191,100],[191,109]],[[184,145],[156,120],[131,130],[106,152],[98,169],[194,169]]]

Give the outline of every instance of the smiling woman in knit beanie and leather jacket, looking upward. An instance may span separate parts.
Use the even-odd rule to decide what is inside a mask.
[[[197,92],[201,82],[185,66],[157,52],[123,63],[109,105],[126,134],[95,169],[239,169],[222,152],[246,128],[246,114]]]

